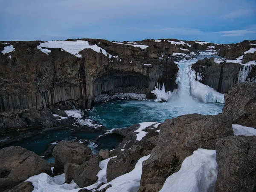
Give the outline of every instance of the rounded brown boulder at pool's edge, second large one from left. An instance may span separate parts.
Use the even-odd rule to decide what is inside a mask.
[[[55,159],[53,173],[63,173],[67,163],[81,165],[84,161],[90,160],[93,156],[89,147],[75,142],[62,140],[53,149],[52,155]]]

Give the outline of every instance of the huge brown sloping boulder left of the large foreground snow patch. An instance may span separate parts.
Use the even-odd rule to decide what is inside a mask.
[[[215,149],[218,139],[233,135],[227,115],[183,115],[160,125],[157,146],[143,162],[140,192],[159,191],[166,178],[198,148]]]

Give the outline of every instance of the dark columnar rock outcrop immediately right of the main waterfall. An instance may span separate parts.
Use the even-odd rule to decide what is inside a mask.
[[[227,93],[231,86],[237,81],[239,63],[215,63],[214,57],[198,60],[192,64],[192,69],[197,74],[197,80],[208,85],[220,93]]]

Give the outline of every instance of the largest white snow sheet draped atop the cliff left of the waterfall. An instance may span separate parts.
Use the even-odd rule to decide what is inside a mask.
[[[44,47],[44,48],[43,48]],[[45,49],[45,48],[54,48],[54,49],[61,49],[62,51],[69,52],[70,54],[75,55],[76,57],[82,57],[81,54],[79,54],[80,51],[83,49],[93,49],[93,51],[97,53],[102,53],[106,57],[118,57],[118,56],[112,56],[111,54],[108,54],[105,49],[102,49],[101,47],[97,45],[89,45],[88,41],[83,40],[77,40],[77,41],[48,41],[45,43],[40,43],[39,46],[37,46],[38,49],[40,49],[45,54],[49,54],[51,50]]]

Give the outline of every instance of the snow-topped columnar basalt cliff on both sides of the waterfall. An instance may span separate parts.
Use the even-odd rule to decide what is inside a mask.
[[[247,45],[251,43],[248,41]],[[227,56],[226,49],[226,45],[176,39],[122,43],[100,39],[2,42],[0,132],[35,122],[54,126],[56,123],[46,121],[51,106],[61,110],[73,106],[90,108],[94,98],[101,94],[146,94],[163,83],[166,92],[173,91],[177,88],[175,62],[195,57],[202,51],[217,54],[220,50],[221,55]],[[248,57],[246,61],[253,58]],[[215,65],[219,64],[215,63],[213,68]],[[236,83],[239,64],[218,66],[220,72],[212,74],[209,70],[209,77],[208,69],[203,70],[197,64],[194,69],[204,72],[202,83],[227,92]]]

